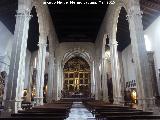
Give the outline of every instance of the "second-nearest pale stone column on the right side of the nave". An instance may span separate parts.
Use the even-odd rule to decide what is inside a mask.
[[[111,52],[111,68],[112,68],[112,83],[113,83],[113,99],[114,103],[118,104],[121,98],[120,88],[120,76],[119,76],[119,60],[117,52],[117,41],[110,41],[110,52]]]

